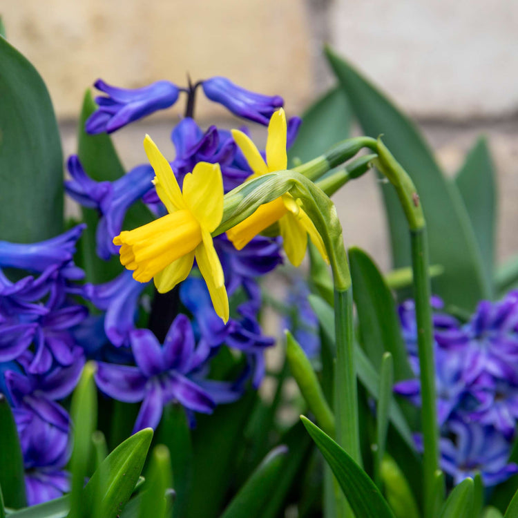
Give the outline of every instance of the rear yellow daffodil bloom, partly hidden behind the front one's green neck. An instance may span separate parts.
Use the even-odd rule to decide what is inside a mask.
[[[271,116],[268,126],[265,162],[258,148],[247,135],[242,131],[232,130],[233,139],[240,147],[253,171],[253,175],[248,180],[287,169],[286,133],[286,115],[284,110],[280,108]],[[323,240],[314,223],[300,207],[300,200],[295,200],[289,193],[282,195],[273,202],[261,205],[251,216],[227,231],[227,236],[234,246],[240,250],[258,233],[275,222],[279,224],[283,246],[292,265],[299,266],[302,262],[307,249],[308,234],[311,242],[315,244],[323,258],[328,261]]]

